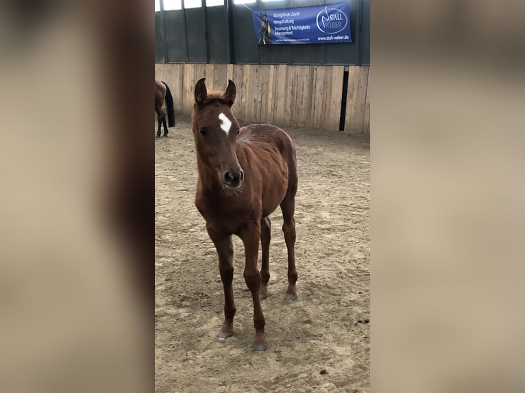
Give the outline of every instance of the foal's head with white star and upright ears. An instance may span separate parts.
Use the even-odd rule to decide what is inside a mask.
[[[208,94],[204,79],[195,85],[193,105],[193,135],[199,160],[217,175],[225,190],[238,190],[244,180],[235,151],[239,123],[232,112],[236,88],[228,81],[222,94]]]

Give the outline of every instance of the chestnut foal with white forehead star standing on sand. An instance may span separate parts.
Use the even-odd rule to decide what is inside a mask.
[[[206,220],[206,229],[219,256],[224,288],[224,323],[219,339],[233,335],[232,235],[245,247],[244,279],[254,302],[254,351],[265,351],[265,317],[260,300],[266,299],[269,273],[270,220],[280,205],[288,249],[287,301],[297,299],[295,281],[295,147],[285,131],[269,124],[239,128],[232,112],[236,87],[228,81],[223,94],[208,94],[204,79],[195,85],[193,136],[197,153],[195,205]],[[262,266],[257,267],[259,242]]]

